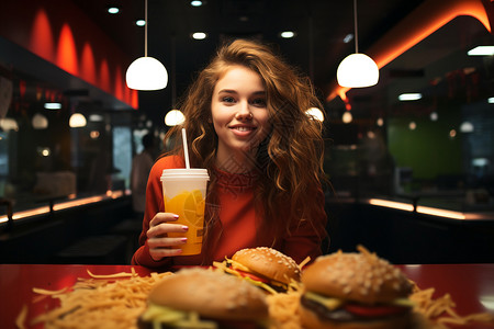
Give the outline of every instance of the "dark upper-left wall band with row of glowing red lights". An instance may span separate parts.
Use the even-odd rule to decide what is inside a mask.
[[[5,3],[0,10],[2,37],[108,93],[123,90],[113,95],[137,109],[138,93],[115,86],[125,84],[124,70],[120,69],[120,81],[114,80],[116,66],[128,67],[130,58],[78,5],[71,1],[64,5],[57,1],[37,1],[27,7],[24,1]]]

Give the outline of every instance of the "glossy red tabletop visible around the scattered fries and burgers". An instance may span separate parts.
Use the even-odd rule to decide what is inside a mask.
[[[411,280],[425,290],[434,287],[435,297],[450,294],[459,315],[494,311],[494,264],[422,264],[397,265]],[[0,264],[0,328],[15,328],[23,305],[30,307],[30,318],[41,314],[50,300],[33,304],[33,287],[57,291],[71,286],[78,277],[93,274],[131,272],[148,275],[149,270],[131,265],[49,265]],[[35,308],[33,308],[35,306]],[[494,328],[463,326],[461,328]]]

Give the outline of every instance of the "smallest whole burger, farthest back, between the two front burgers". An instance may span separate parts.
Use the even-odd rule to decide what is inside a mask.
[[[232,259],[215,266],[271,294],[287,292],[291,285],[300,283],[301,269],[295,261],[268,247],[238,250]]]

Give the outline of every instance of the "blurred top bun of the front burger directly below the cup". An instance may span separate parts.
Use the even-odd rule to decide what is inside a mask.
[[[260,290],[236,276],[202,268],[183,269],[165,277],[151,290],[148,300],[217,320],[268,317],[266,295]]]

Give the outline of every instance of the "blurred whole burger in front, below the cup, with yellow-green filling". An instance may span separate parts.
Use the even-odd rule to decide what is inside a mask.
[[[182,269],[150,291],[139,329],[265,328],[266,294],[220,271]]]

